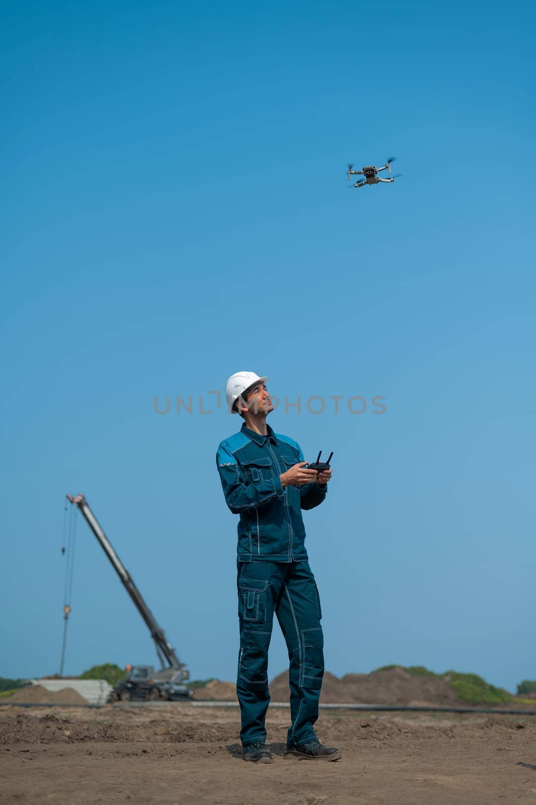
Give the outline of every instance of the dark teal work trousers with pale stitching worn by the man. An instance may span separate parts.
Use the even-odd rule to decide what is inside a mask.
[[[320,597],[307,562],[239,562],[240,653],[237,696],[241,742],[266,741],[268,648],[274,613],[290,660],[291,727],[287,745],[315,740],[324,676]]]

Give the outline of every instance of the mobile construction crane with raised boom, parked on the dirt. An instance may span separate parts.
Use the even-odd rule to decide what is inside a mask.
[[[115,696],[121,700],[130,699],[185,699],[189,698],[192,691],[188,690],[183,684],[183,681],[188,679],[188,670],[186,666],[180,662],[175,654],[175,649],[171,643],[167,641],[163,629],[158,625],[155,616],[151,613],[149,607],[143,600],[142,593],[134,584],[134,580],[130,573],[126,570],[119,559],[117,553],[113,550],[112,543],[102,530],[100,523],[89,508],[89,503],[84,495],[67,495],[67,499],[78,506],[82,513],[85,522],[88,523],[89,528],[97,537],[98,543],[101,545],[102,550],[108,557],[109,561],[113,564],[115,572],[117,572],[123,587],[130,595],[134,606],[138,609],[138,613],[145,621],[147,628],[150,631],[150,636],[155,643],[156,654],[160,661],[160,670],[155,671],[152,666],[131,666],[126,675],[126,679],[122,679],[115,688]]]

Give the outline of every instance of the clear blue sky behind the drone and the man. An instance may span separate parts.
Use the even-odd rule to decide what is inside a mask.
[[[208,392],[249,369],[283,401],[276,431],[335,452],[305,514],[328,670],[536,678],[534,16],[7,10],[0,675],[58,670],[64,494],[82,492],[192,677],[234,678],[215,453],[237,419]],[[347,189],[348,161],[390,155],[400,180]],[[311,415],[312,395],[344,401]],[[153,660],[80,521],[66,673]],[[276,625],[270,676],[286,662]]]

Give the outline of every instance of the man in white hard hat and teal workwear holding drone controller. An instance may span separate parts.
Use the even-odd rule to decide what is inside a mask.
[[[274,613],[290,659],[291,727],[285,758],[339,760],[339,749],[318,741],[313,725],[324,676],[320,598],[307,562],[302,509],[326,497],[331,469],[307,469],[294,440],[274,433],[267,378],[237,372],[225,385],[241,431],[221,442],[216,464],[225,501],[239,514],[237,587],[240,618],[237,696],[246,761],[271,763],[266,748],[268,647]]]

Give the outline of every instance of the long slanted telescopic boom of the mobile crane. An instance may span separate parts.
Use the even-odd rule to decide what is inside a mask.
[[[183,679],[188,679],[188,671],[185,670],[186,666],[180,662],[179,658],[175,654],[175,649],[173,649],[171,644],[167,642],[163,629],[155,621],[155,616],[153,613],[151,613],[149,607],[143,600],[142,593],[139,592],[138,588],[134,584],[134,580],[130,576],[130,573],[126,570],[121,559],[119,559],[117,553],[113,550],[112,543],[110,543],[108,537],[105,535],[104,530],[102,530],[101,525],[93,514],[93,511],[89,508],[89,503],[85,499],[84,495],[76,495],[75,497],[72,495],[67,495],[67,498],[71,503],[74,503],[80,509],[85,521],[89,525],[89,528],[97,537],[102,550],[113,564],[113,568],[121,579],[121,583],[126,589],[126,592],[128,592],[130,598],[132,601],[134,601],[134,606],[136,609],[138,609],[138,613],[140,613],[143,620],[146,622],[146,625],[150,631],[150,636],[155,642],[156,653],[159,656],[163,671],[166,670],[167,663],[168,669],[173,671],[183,671]]]

